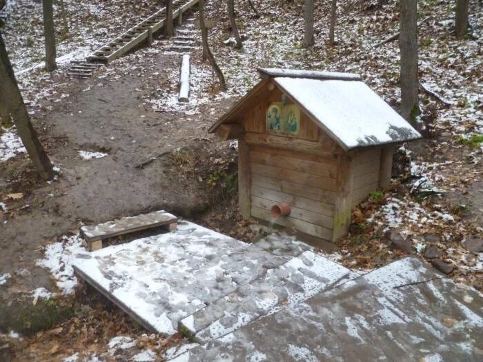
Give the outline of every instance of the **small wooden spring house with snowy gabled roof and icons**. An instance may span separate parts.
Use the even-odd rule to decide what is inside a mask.
[[[238,139],[239,207],[328,241],[391,181],[395,143],[420,138],[357,74],[259,69],[260,81],[209,130]]]

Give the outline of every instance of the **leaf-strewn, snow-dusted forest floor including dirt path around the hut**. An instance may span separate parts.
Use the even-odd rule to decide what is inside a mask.
[[[63,263],[43,268],[49,266],[42,263],[46,245],[66,245],[66,236],[86,223],[159,209],[244,241],[259,237],[256,222],[242,221],[237,210],[236,150],[206,130],[257,82],[257,66],[356,72],[397,110],[397,41],[372,48],[397,32],[397,10],[392,1],[382,8],[377,1],[340,1],[337,44],[328,46],[324,3],[316,9],[316,44],[305,50],[299,1],[264,1],[257,6],[261,18],[243,2],[237,16],[246,40],[243,50],[235,50],[224,44],[230,38],[225,7],[208,1],[208,15],[221,14],[210,43],[228,91],[217,92],[197,50],[192,99],[179,105],[179,55],[166,52],[169,41],[163,39],[102,66],[91,79],[66,77],[70,59],[85,57],[157,1],[138,1],[134,8],[125,1],[65,3],[69,36],[59,43],[63,61],[52,74],[41,64],[41,4],[10,1],[6,19],[19,86],[61,173],[49,183],[37,181],[14,128],[0,129],[0,330],[6,332],[0,334],[0,359],[155,359],[181,337],[147,335],[83,285],[70,294],[59,288],[68,248],[57,255]],[[384,265],[403,255],[383,236],[396,230],[415,254],[424,257],[435,248],[453,269],[451,278],[481,290],[483,9],[473,3],[473,36],[455,41],[452,3],[420,2],[420,18],[431,14],[420,29],[420,79],[451,105],[420,93],[425,139],[397,151],[390,190],[359,205],[351,234],[331,257],[359,270]],[[60,37],[60,19],[57,28]]]

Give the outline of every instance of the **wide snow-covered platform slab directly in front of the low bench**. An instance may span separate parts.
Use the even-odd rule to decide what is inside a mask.
[[[286,258],[189,222],[175,232],[83,254],[77,274],[145,328],[173,334],[179,320]]]

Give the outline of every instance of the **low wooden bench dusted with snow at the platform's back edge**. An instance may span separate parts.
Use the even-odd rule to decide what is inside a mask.
[[[81,236],[88,244],[88,250],[93,251],[102,248],[102,240],[119,235],[130,234],[150,228],[164,226],[168,230],[175,230],[177,217],[164,210],[141,214],[135,217],[123,217],[107,223],[88,225],[81,228]]]

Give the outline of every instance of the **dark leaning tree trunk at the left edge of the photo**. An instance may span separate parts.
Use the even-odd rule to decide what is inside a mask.
[[[32,163],[41,174],[43,179],[49,180],[54,177],[54,170],[52,163],[48,158],[46,151],[37,137],[23,98],[17,85],[17,80],[8,59],[7,50],[3,38],[0,34],[0,79],[2,80],[2,87],[0,88],[0,98],[5,99],[8,104],[8,109],[12,115],[12,119],[17,126],[19,136],[25,146]]]

